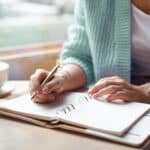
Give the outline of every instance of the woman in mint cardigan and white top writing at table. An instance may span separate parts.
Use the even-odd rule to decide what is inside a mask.
[[[150,1],[77,0],[75,23],[60,60],[65,64],[42,89],[48,74],[31,76],[35,102],[54,100],[64,91],[93,85],[98,99],[150,103]]]

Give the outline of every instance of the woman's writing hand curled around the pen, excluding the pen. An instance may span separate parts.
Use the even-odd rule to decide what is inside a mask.
[[[33,99],[38,103],[46,103],[56,99],[56,96],[63,92],[64,76],[56,74],[46,85],[41,88],[40,83],[48,75],[48,71],[44,69],[37,69],[30,78],[30,94],[36,93]]]

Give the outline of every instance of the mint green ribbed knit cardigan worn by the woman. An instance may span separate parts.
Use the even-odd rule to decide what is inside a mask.
[[[60,59],[80,66],[88,84],[108,76],[130,81],[130,0],[77,0]]]

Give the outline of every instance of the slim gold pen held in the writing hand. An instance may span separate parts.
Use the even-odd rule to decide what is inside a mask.
[[[56,62],[56,65],[52,68],[52,70],[48,73],[48,75],[46,76],[46,78],[42,81],[42,83],[40,84],[41,87],[43,87],[48,81],[50,81],[53,77],[54,77],[54,74],[55,72],[57,71],[57,69],[59,67],[62,66],[62,63],[57,61]],[[31,99],[33,99],[34,97],[36,96],[36,93],[34,92],[32,95],[31,95]]]

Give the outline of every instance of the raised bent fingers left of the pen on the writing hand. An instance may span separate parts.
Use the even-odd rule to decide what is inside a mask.
[[[37,90],[40,88],[40,83],[47,76],[48,72],[43,69],[37,69],[36,72],[30,77],[30,92]]]

